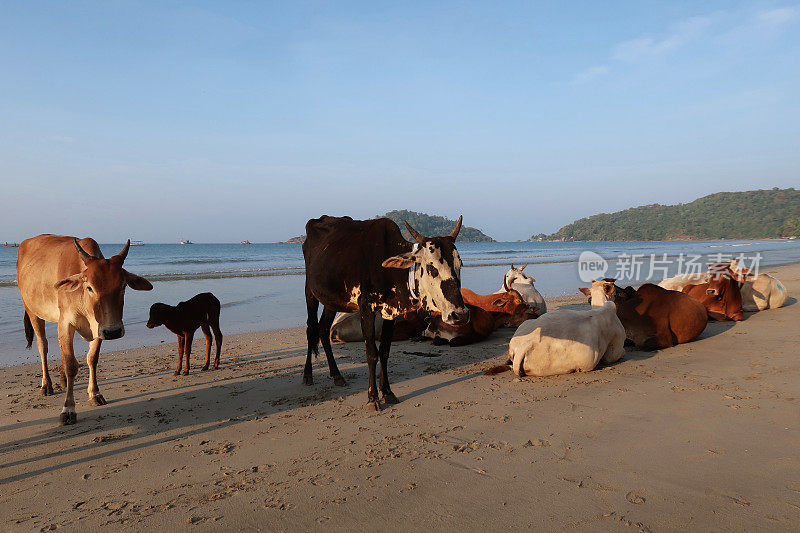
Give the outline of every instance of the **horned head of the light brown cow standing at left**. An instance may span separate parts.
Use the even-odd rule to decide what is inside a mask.
[[[82,291],[82,311],[95,339],[118,339],[125,335],[122,307],[126,286],[137,291],[153,288],[146,279],[122,268],[130,245],[128,239],[120,253],[105,259],[87,253],[75,239],[75,249],[83,261],[83,270],[55,284],[59,290]]]

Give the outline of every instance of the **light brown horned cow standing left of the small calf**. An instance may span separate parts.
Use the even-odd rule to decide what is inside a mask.
[[[61,349],[61,382],[67,394],[61,412],[62,424],[75,423],[72,387],[78,362],[72,347],[77,332],[89,341],[86,363],[89,367],[89,402],[104,405],[97,387],[97,360],[103,340],[125,334],[122,308],[125,287],[149,291],[149,281],[122,268],[130,240],[122,251],[105,259],[94,239],[61,235],[39,235],[22,241],[17,253],[17,285],[25,306],[25,336],[28,347],[36,342],[42,362],[42,394],[53,394],[47,371],[47,337],[44,323],[58,324]]]

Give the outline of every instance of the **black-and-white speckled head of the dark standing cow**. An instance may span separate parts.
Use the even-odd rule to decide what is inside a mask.
[[[442,320],[458,326],[469,320],[469,311],[461,298],[461,258],[456,250],[456,237],[461,230],[462,217],[446,237],[425,237],[411,224],[405,223],[408,232],[419,243],[417,250],[386,259],[387,268],[409,268],[414,263],[414,282],[422,307],[440,312]]]

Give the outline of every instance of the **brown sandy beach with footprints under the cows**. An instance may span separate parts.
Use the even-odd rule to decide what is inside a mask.
[[[360,343],[334,345],[348,387],[324,357],[301,385],[302,328],[227,336],[210,372],[199,335],[187,377],[175,344],[103,353],[109,404],[88,405],[82,365],[68,427],[38,365],[0,369],[2,528],[797,530],[800,266],[769,272],[784,308],[590,373],[483,375],[511,329],[395,343],[401,403],[380,413]]]

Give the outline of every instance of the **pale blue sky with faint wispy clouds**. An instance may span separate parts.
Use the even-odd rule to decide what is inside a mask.
[[[0,240],[497,239],[800,185],[800,5],[2,2]]]

